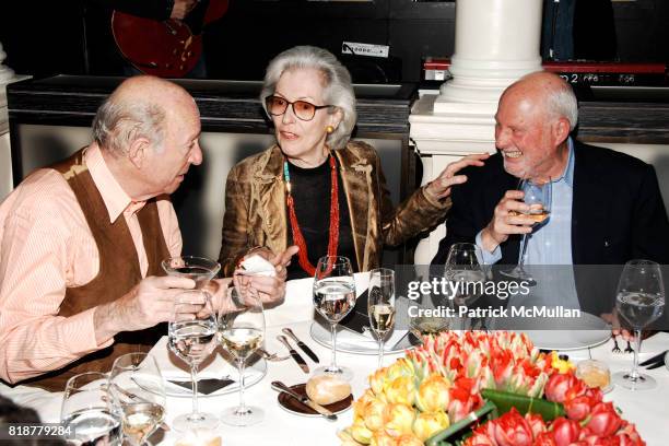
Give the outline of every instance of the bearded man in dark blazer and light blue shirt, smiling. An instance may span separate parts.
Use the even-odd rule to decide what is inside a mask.
[[[445,263],[460,242],[476,243],[485,263],[516,265],[521,236],[536,223],[517,190],[525,178],[552,181],[551,216],[529,238],[527,265],[669,263],[669,222],[653,166],[571,138],[577,116],[572,87],[555,74],[531,73],[504,91],[498,153],[462,172],[468,181],[453,191],[433,265]],[[580,298],[591,284],[576,275]]]

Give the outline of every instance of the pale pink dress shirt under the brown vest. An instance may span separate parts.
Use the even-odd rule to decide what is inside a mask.
[[[148,260],[132,202],[109,172],[99,148],[84,161],[114,222],[126,219],[142,277]],[[181,251],[181,234],[172,203],[157,202],[171,255]],[[95,340],[93,314],[56,316],[66,287],[97,275],[99,257],[74,192],[54,169],[31,174],[0,204],[0,378],[15,383],[61,366],[109,345]],[[120,296],[119,296],[120,297]]]

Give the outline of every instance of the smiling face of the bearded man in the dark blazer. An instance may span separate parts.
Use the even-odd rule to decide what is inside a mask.
[[[495,145],[504,169],[518,178],[556,177],[561,168],[551,121],[540,104],[521,92],[505,93],[495,115]]]

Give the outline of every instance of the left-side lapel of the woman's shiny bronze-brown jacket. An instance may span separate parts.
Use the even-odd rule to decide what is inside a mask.
[[[259,203],[262,230],[267,236],[265,245],[274,254],[285,250],[287,223],[285,218],[285,185],[282,178],[283,156],[274,146],[268,156],[258,160],[254,174],[254,193]]]

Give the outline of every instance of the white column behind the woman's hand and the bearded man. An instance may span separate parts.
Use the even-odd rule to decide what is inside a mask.
[[[456,3],[453,79],[438,92],[421,92],[409,122],[423,160],[423,183],[451,161],[494,152],[494,114],[506,86],[541,70],[542,0],[461,0]],[[436,254],[444,227],[422,240],[416,263]]]

